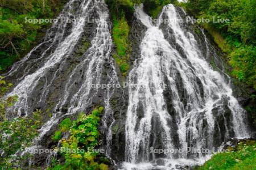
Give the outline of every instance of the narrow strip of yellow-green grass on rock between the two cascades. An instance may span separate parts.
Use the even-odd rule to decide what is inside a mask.
[[[130,69],[130,27],[123,16],[121,19],[113,18],[113,40],[117,46],[117,54],[114,54],[115,62],[117,62],[121,72],[125,76]]]

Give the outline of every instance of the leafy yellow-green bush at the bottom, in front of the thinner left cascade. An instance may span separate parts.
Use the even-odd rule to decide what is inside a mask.
[[[94,147],[100,145],[98,125],[103,110],[103,107],[97,107],[89,115],[81,113],[79,118],[72,122],[68,130],[70,137],[61,141],[59,154],[64,158],[64,162],[54,162],[51,169],[108,169],[105,164],[108,161],[93,151]],[[67,128],[66,125],[71,125],[68,118],[61,122],[59,128]]]

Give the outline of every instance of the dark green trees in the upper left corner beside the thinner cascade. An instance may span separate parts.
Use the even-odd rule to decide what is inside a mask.
[[[0,1],[0,70],[5,70],[24,56],[47,23],[29,23],[28,19],[53,18],[61,10],[60,0]]]

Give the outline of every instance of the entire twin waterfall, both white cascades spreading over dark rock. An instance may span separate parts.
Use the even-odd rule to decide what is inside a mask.
[[[46,141],[64,118],[76,117],[99,104],[105,108],[101,147],[113,159],[125,147],[125,162],[120,167],[124,169],[179,169],[201,164],[230,138],[250,137],[246,112],[233,96],[224,63],[217,69],[210,65],[210,57],[214,61],[219,57],[203,30],[203,42],[199,42],[188,29],[192,23],[185,23],[185,15],[182,8],[167,5],[158,22],[152,23],[143,5],[135,7],[137,22],[146,31],[140,55],[135,56],[127,77],[125,117],[126,89],[116,89],[121,86],[112,58],[108,7],[104,0],[70,0],[44,40],[3,75],[14,84],[6,96],[18,96],[8,111],[10,117],[31,116],[35,109],[46,111],[34,146],[22,154],[52,147]],[[94,22],[88,22],[92,18]],[[99,84],[116,87],[98,88]],[[117,106],[121,105],[119,99],[121,107]],[[52,115],[47,116],[47,111]],[[118,135],[112,134],[115,123]],[[124,135],[126,145],[118,146]],[[46,167],[54,155],[56,152],[46,156]]]

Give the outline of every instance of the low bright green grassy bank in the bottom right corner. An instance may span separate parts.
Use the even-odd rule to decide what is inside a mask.
[[[241,142],[236,148],[229,148],[229,152],[216,154],[198,170],[206,169],[255,169],[256,144],[255,141]]]

